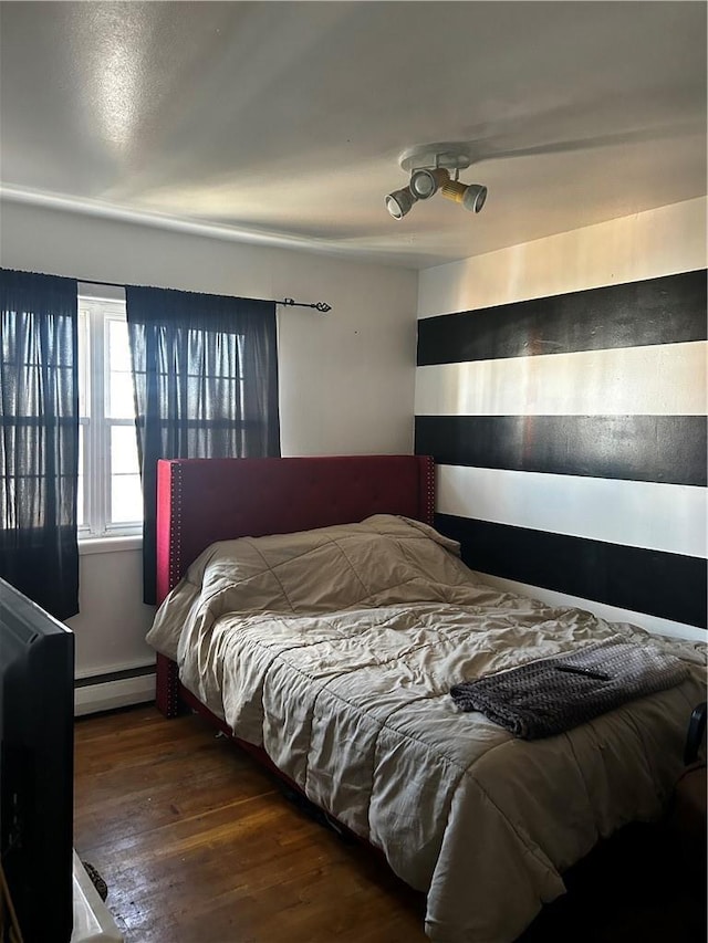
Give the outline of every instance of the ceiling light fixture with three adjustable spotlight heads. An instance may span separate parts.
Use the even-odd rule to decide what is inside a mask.
[[[485,206],[487,187],[459,180],[459,171],[471,163],[465,145],[430,144],[406,151],[400,158],[400,166],[409,171],[410,180],[407,187],[388,193],[386,209],[394,219],[403,219],[415,202],[428,200],[439,191],[446,199],[478,213]]]

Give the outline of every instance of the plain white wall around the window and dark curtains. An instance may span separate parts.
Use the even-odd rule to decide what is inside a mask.
[[[67,211],[0,205],[0,265],[84,281],[325,301],[279,310],[282,452],[410,453],[417,273]],[[146,663],[139,551],[81,557],[77,674]]]

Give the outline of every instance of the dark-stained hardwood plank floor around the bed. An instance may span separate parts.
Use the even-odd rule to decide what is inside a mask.
[[[82,719],[75,771],[74,845],[106,881],[126,943],[426,940],[420,895],[197,716]],[[591,876],[581,867],[523,943],[705,943],[700,908],[657,869],[655,842],[622,853]]]

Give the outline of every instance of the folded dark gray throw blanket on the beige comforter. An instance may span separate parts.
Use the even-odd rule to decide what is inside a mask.
[[[688,667],[656,646],[617,636],[450,689],[462,711],[481,711],[522,740],[571,730],[635,698],[673,688]]]

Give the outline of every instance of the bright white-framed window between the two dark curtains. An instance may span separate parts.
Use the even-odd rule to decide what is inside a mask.
[[[79,538],[142,533],[125,301],[79,295]]]

